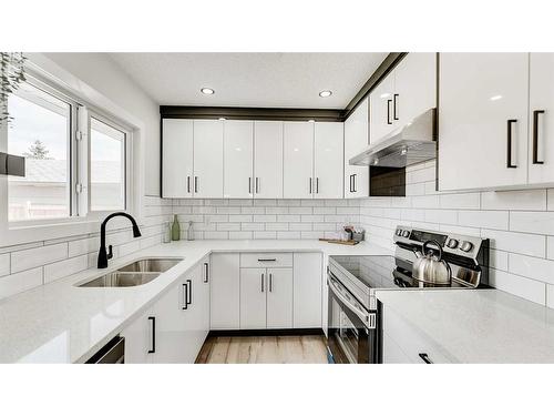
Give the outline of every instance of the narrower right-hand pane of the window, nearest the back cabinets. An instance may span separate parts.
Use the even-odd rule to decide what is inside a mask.
[[[125,209],[126,133],[91,116],[91,211]]]

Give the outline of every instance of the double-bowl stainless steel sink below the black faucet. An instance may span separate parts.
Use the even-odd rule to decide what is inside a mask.
[[[141,258],[104,274],[92,281],[81,283],[78,287],[132,287],[152,282],[162,273],[167,272],[183,258]]]

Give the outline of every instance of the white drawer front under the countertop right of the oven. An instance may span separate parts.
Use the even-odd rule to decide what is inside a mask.
[[[404,354],[404,358],[408,358],[411,363],[425,364],[425,359],[433,364],[451,363],[441,352],[439,345],[386,306],[383,307],[383,333],[386,339],[389,338],[387,343],[383,343],[383,349],[387,346],[391,348],[391,345],[398,346]],[[383,351],[383,358],[391,355],[398,356],[398,353]]]

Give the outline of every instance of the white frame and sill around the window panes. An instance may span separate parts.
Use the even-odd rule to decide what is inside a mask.
[[[38,55],[42,59],[41,55]],[[49,62],[47,62],[49,63]],[[71,108],[71,140],[70,152],[68,155],[71,159],[70,163],[70,214],[69,217],[43,219],[43,220],[25,220],[25,221],[8,221],[8,176],[0,176],[0,247],[16,244],[34,243],[53,239],[66,239],[74,235],[90,234],[100,231],[100,222],[107,215],[105,211],[89,210],[90,199],[88,196],[89,189],[89,136],[90,122],[89,112],[95,118],[113,125],[117,130],[125,132],[125,212],[133,215],[138,223],[143,223],[141,216],[142,193],[138,187],[143,186],[141,180],[135,176],[140,173],[137,161],[141,158],[141,146],[135,143],[143,136],[144,125],[134,118],[127,114],[123,109],[114,105],[109,99],[99,92],[88,88],[82,89],[83,97],[80,94],[70,93],[68,91],[75,90],[75,85],[81,88],[82,82],[72,75],[63,72],[69,84],[60,82],[59,78],[52,77],[50,73],[41,70],[39,67],[28,69],[27,78],[29,83],[43,89],[48,93],[53,94],[63,101],[70,102]],[[57,71],[59,68],[55,68]],[[65,80],[64,80],[65,81]],[[66,88],[70,87],[70,88]],[[73,88],[71,88],[73,87]],[[91,103],[99,101],[98,103]],[[106,110],[103,110],[103,106]],[[115,110],[116,113],[124,116],[114,115],[110,110]],[[125,116],[130,119],[126,122]],[[83,125],[85,123],[85,125]],[[6,123],[0,126],[0,151],[6,152],[8,149],[8,126]],[[84,163],[82,161],[85,161]],[[78,193],[76,186],[79,181],[85,180],[85,192]],[[129,224],[117,225],[116,229],[126,227]],[[38,237],[40,235],[40,237]]]

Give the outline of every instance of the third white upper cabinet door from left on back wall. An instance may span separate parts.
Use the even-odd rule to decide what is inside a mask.
[[[224,197],[252,197],[253,183],[252,121],[226,121],[224,126]]]

